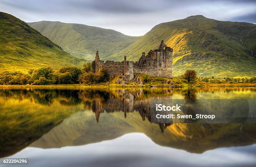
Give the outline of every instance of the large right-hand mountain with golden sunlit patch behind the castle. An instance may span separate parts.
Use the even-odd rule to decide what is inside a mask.
[[[108,59],[138,60],[161,40],[174,49],[174,76],[195,69],[200,76],[255,76],[256,25],[224,22],[202,15],[165,22]],[[253,52],[253,55],[251,54]]]

